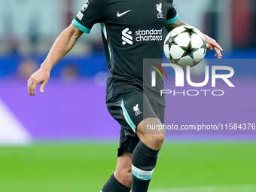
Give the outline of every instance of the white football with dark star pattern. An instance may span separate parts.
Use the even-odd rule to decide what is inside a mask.
[[[196,66],[206,55],[206,39],[193,26],[178,26],[166,36],[163,51],[170,62],[182,68]]]

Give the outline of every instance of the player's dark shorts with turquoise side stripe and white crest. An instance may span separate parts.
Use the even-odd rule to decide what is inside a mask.
[[[136,135],[136,127],[143,119],[157,117],[157,114],[155,114],[150,102],[140,90],[132,90],[128,93],[114,96],[107,102],[107,106],[111,116],[121,126],[117,156],[120,157],[123,152],[133,154],[133,150],[139,142],[139,137]]]

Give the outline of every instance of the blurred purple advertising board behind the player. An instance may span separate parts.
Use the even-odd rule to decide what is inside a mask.
[[[171,81],[174,81],[172,78]],[[226,123],[256,123],[255,108],[256,78],[235,78],[232,83],[236,87],[220,84],[215,88],[224,90],[224,96],[182,96],[166,95],[166,125],[172,123],[178,126],[190,124],[226,124]],[[169,87],[169,86],[166,86]],[[184,87],[185,90],[194,88]],[[203,89],[213,90],[206,86]],[[0,98],[20,120],[33,140],[111,140],[117,139],[119,124],[108,114],[105,105],[105,87],[99,86],[92,79],[80,81],[50,80],[41,94],[37,90],[35,97],[29,97],[26,81],[0,81]],[[182,89],[176,89],[182,91]],[[8,129],[8,127],[6,127]],[[221,136],[216,132],[200,132],[211,136],[187,135],[191,132],[167,131],[171,139],[211,139],[211,138],[254,138],[256,130],[221,131],[218,134],[245,134],[254,136]],[[193,132],[197,133],[197,132]],[[185,135],[177,135],[185,134]]]

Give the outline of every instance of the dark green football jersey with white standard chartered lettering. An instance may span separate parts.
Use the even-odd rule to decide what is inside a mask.
[[[164,105],[164,98],[157,93],[163,89],[163,80],[157,78],[157,86],[151,87],[152,68],[144,69],[148,73],[143,72],[143,59],[162,59],[164,25],[177,20],[172,0],[87,0],[72,23],[86,33],[93,24],[101,23],[111,72],[107,101],[118,93],[143,91],[146,87],[153,93],[149,97]]]

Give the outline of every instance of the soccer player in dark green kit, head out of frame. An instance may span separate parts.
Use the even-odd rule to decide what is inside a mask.
[[[145,134],[143,126],[162,125],[165,100],[143,82],[143,59],[162,58],[164,27],[169,32],[187,24],[180,20],[172,0],[87,0],[72,24],[56,39],[40,69],[29,78],[30,96],[35,96],[38,84],[44,93],[53,66],[95,23],[102,26],[105,57],[111,72],[107,81],[108,111],[121,126],[117,166],[101,191],[145,192],[165,133]],[[207,47],[214,49],[215,56],[221,59],[220,45],[205,37]],[[163,87],[161,78],[157,85]]]

